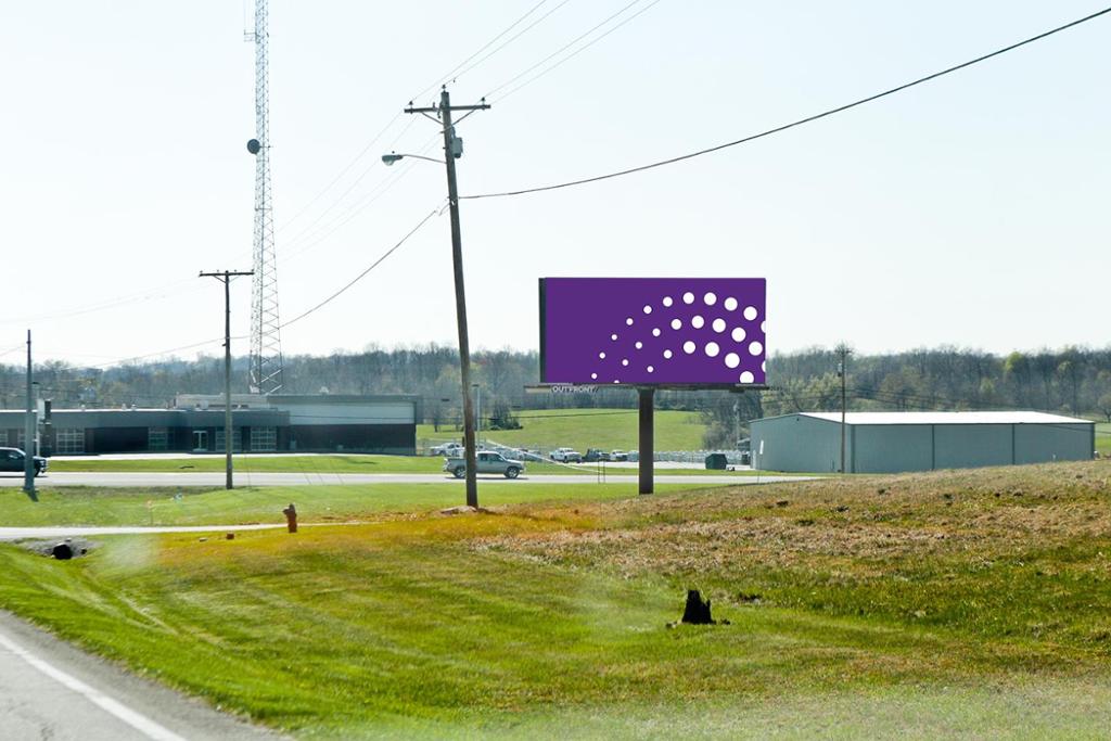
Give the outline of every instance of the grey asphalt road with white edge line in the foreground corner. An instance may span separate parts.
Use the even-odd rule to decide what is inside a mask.
[[[276,739],[0,611],[0,739]]]

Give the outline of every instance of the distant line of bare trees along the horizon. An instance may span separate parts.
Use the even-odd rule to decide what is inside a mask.
[[[635,407],[630,390],[530,394],[540,377],[536,352],[498,350],[473,357],[473,380],[482,390],[489,427],[514,427],[530,409]],[[841,407],[841,381],[833,349],[814,348],[768,361],[772,390],[664,392],[661,409],[700,411],[707,447],[732,444],[747,422],[797,411]],[[23,407],[24,369],[0,366],[0,407]],[[167,407],[178,393],[220,393],[223,359],[158,361],[107,369],[51,361],[37,366],[36,380],[56,408]],[[938,348],[851,356],[845,378],[850,410],[1032,409],[1111,421],[1111,348],[1065,348],[994,356]],[[237,359],[232,389],[247,392],[247,360]],[[459,359],[454,348],[424,346],[328,357],[286,358],[287,393],[412,393],[423,398],[426,421],[454,427],[460,419]]]

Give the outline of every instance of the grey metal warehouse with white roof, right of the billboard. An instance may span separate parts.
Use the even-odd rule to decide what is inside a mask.
[[[837,471],[840,412],[754,420],[752,467],[765,471]],[[1079,461],[1092,458],[1095,423],[1042,412],[849,412],[848,473],[895,473]]]

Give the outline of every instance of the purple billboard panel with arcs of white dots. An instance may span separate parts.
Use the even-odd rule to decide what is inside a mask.
[[[544,383],[763,385],[763,278],[541,278]]]

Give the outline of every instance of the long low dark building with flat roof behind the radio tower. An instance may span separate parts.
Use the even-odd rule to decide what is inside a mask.
[[[237,451],[417,452],[414,395],[234,394]],[[172,409],[60,409],[39,425],[46,455],[222,452],[224,399],[182,394]],[[23,449],[26,412],[0,411],[0,445]]]

